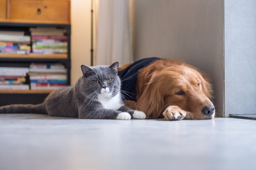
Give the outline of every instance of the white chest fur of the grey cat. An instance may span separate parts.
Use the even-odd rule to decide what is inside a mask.
[[[107,94],[99,94],[98,101],[106,109],[117,110],[118,108],[121,108],[121,106],[123,106],[120,93],[116,94],[116,96],[113,96],[111,98],[107,96]]]

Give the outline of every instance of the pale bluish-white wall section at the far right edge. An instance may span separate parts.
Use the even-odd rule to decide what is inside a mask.
[[[256,113],[256,1],[225,1],[225,113]]]

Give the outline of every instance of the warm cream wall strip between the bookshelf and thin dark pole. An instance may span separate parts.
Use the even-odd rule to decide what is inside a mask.
[[[91,1],[71,1],[71,84],[82,75],[81,64],[90,65]]]

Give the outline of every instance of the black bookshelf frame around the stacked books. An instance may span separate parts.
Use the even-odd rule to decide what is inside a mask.
[[[40,55],[30,53],[28,55],[20,54],[7,54],[0,53],[0,67],[6,64],[11,65],[23,65],[29,66],[32,62],[60,62],[65,65],[67,69],[67,85],[70,85],[70,36],[71,26],[70,24],[59,24],[59,23],[14,23],[14,22],[1,22],[0,30],[21,30],[26,34],[29,34],[30,28],[62,28],[66,30],[67,35],[67,54],[50,54]],[[0,90],[0,106],[13,104],[13,103],[31,103],[37,104],[42,103],[44,99],[53,90]]]

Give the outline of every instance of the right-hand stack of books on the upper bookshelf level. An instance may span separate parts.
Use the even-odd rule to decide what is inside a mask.
[[[65,29],[30,28],[32,49],[36,54],[67,53],[67,36]]]

